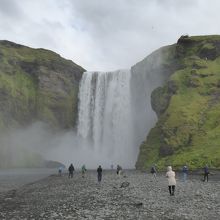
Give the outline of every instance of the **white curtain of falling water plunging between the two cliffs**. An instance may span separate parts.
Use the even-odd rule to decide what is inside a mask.
[[[78,136],[91,157],[104,164],[134,167],[130,70],[85,72],[79,91]]]

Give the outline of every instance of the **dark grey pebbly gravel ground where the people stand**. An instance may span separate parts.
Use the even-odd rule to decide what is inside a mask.
[[[160,174],[127,171],[126,178],[104,172],[98,184],[96,172],[83,179],[75,173],[50,176],[17,190],[0,194],[0,219],[220,219],[219,175],[202,182],[177,177],[175,196],[169,196],[167,180]],[[122,182],[130,185],[120,188]]]

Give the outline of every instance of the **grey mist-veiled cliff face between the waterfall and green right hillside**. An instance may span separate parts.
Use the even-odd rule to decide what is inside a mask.
[[[163,85],[177,68],[175,45],[156,50],[131,68],[131,110],[134,126],[134,146],[139,146],[155,125],[157,117],[152,110],[151,93]],[[140,142],[141,141],[141,142]]]

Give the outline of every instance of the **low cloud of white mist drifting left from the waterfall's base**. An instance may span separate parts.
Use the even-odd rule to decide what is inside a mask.
[[[0,167],[41,166],[45,159],[66,166],[73,163],[76,168],[85,164],[95,169],[101,164],[109,169],[113,163],[108,157],[109,150],[97,151],[92,142],[81,139],[74,131],[54,132],[46,124],[37,122],[1,134]]]

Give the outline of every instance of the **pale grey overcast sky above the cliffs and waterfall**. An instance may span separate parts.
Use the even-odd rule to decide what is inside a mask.
[[[219,0],[0,0],[0,39],[115,70],[182,34],[220,34],[219,11]]]

